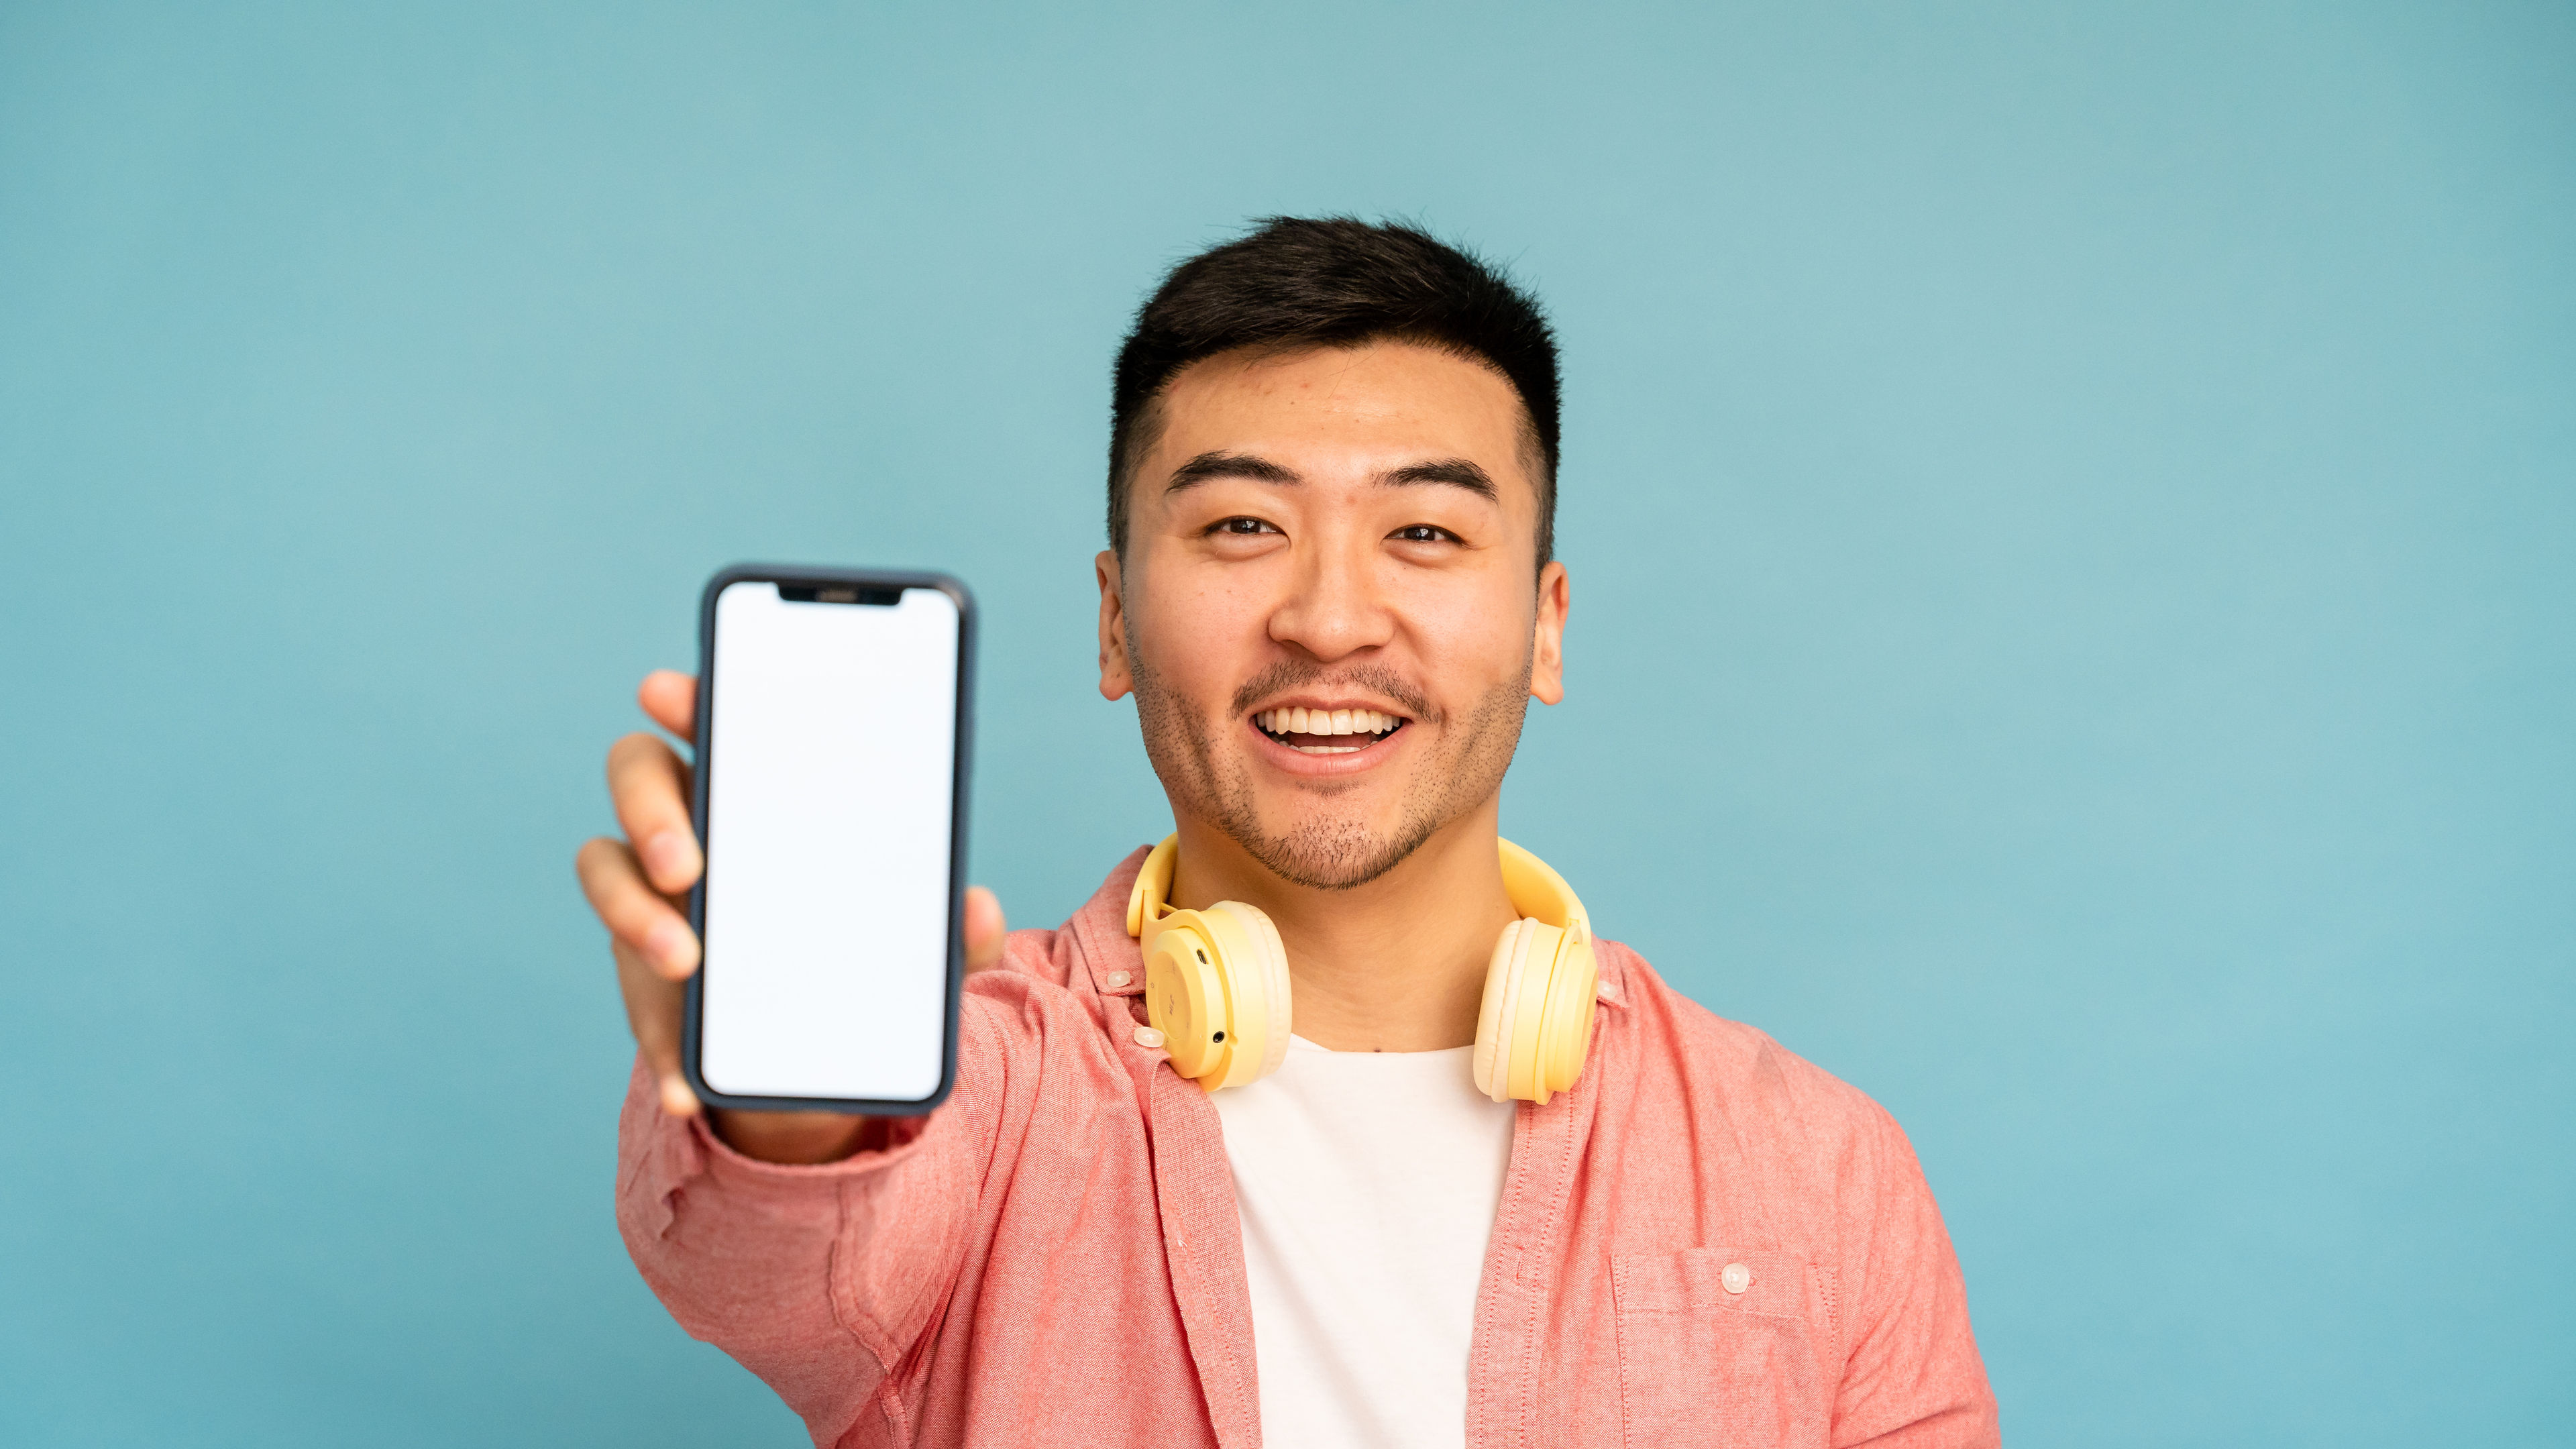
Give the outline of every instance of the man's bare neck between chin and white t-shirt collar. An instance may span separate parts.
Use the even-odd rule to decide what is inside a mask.
[[[1334,1052],[1440,1052],[1476,1042],[1494,938],[1517,915],[1494,853],[1499,802],[1450,820],[1383,877],[1288,884],[1213,825],[1180,822],[1172,905],[1239,900],[1288,949],[1296,1034]]]

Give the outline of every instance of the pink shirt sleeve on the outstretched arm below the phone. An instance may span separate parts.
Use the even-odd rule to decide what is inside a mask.
[[[703,1116],[670,1116],[644,1062],[618,1116],[618,1230],[662,1307],[842,1439],[922,1341],[979,1220],[1005,1052],[969,993],[956,1091],[876,1119],[824,1165],[744,1158]],[[989,1003],[987,1003],[989,1006]]]

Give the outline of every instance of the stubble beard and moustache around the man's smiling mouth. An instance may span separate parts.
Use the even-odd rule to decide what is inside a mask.
[[[1530,701],[1530,660],[1522,657],[1520,678],[1499,683],[1461,717],[1437,714],[1427,699],[1391,670],[1324,668],[1285,660],[1262,670],[1236,691],[1234,709],[1218,719],[1167,688],[1136,650],[1128,632],[1128,668],[1136,681],[1136,724],[1144,730],[1144,753],[1162,776],[1172,810],[1195,815],[1226,833],[1247,856],[1270,874],[1291,884],[1314,890],[1352,890],[1396,869],[1443,825],[1476,810],[1502,789],[1502,773],[1512,768],[1520,748],[1520,724]],[[1414,768],[1404,784],[1404,812],[1388,833],[1376,830],[1365,817],[1334,810],[1337,794],[1358,786],[1309,784],[1301,786],[1301,817],[1285,833],[1262,830],[1260,799],[1252,789],[1252,761],[1239,750],[1218,750],[1218,732],[1234,727],[1260,696],[1291,686],[1350,686],[1378,694],[1412,712],[1406,730],[1435,730],[1437,753]]]

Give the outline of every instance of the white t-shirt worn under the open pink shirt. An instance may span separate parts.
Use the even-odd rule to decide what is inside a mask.
[[[1262,1444],[1466,1444],[1466,1359],[1512,1109],[1473,1047],[1327,1052],[1288,1039],[1216,1093],[1244,1220]]]

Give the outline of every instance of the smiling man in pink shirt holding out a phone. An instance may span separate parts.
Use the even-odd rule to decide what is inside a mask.
[[[580,866],[641,1047],[618,1222],[817,1444],[1996,1441],[1865,1096],[1613,941],[1571,1088],[1476,1088],[1502,773],[1564,694],[1556,410],[1528,297],[1350,219],[1182,263],[1118,356],[1100,694],[1170,794],[1170,902],[1278,928],[1296,1039],[1249,1085],[1146,1026],[1139,851],[1059,931],[969,895],[930,1116],[701,1114],[685,766],[611,750],[626,843]],[[641,699],[690,732],[685,676]]]

